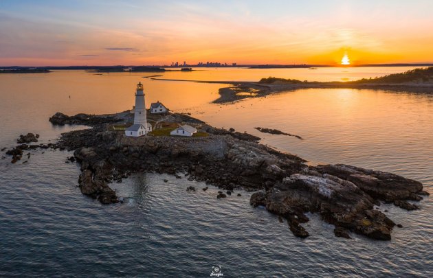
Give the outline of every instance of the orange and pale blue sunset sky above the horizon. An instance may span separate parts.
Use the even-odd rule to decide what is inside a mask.
[[[0,66],[433,62],[431,0],[0,0]]]

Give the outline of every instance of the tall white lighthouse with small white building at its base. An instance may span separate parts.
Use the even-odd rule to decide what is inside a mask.
[[[144,91],[142,82],[137,84],[135,92],[134,124],[126,128],[125,135],[139,137],[152,131],[152,126],[146,119],[146,104],[144,101]]]

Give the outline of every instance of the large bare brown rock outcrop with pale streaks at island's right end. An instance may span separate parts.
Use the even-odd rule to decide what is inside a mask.
[[[395,223],[373,209],[373,205],[378,199],[414,199],[422,190],[420,185],[386,172],[348,165],[320,165],[304,174],[283,178],[266,192],[256,192],[250,203],[254,207],[263,205],[271,213],[286,218],[291,231],[300,237],[308,234],[299,223],[308,220],[305,212],[312,212],[320,213],[324,221],[335,224],[337,236],[348,238],[346,231],[354,231],[376,240],[390,240]]]

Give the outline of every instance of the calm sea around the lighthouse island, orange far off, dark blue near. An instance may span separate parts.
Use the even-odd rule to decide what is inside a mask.
[[[410,68],[203,69],[167,72],[187,80],[353,80]],[[149,73],[56,71],[0,75],[0,147],[24,132],[55,140],[73,127],[54,128],[61,111],[115,113],[130,109],[137,82],[146,102],[157,100],[209,124],[247,131],[262,143],[311,163],[350,163],[421,181],[433,194],[433,95],[352,89],[307,89],[236,104],[211,104],[222,84],[149,80]],[[70,96],[70,98],[69,98]],[[267,135],[254,127],[300,135]],[[432,197],[420,211],[381,205],[395,228],[390,242],[352,234],[335,238],[316,215],[301,240],[287,223],[241,197],[216,200],[215,187],[169,175],[135,174],[113,184],[124,204],[100,205],[76,185],[71,153],[34,151],[24,163],[0,160],[1,277],[432,277]],[[4,152],[0,154],[5,156]],[[164,183],[164,178],[168,183]]]

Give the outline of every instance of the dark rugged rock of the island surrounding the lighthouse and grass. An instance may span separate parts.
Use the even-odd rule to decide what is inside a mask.
[[[28,149],[74,150],[68,162],[80,163],[78,186],[82,194],[104,204],[120,201],[109,183],[121,182],[133,172],[167,173],[179,178],[184,174],[190,181],[204,181],[226,191],[216,198],[225,198],[240,188],[254,191],[251,205],[263,205],[280,220],[286,219],[289,229],[301,238],[309,235],[301,224],[309,220],[304,213],[311,212],[334,224],[336,236],[348,238],[352,231],[390,240],[395,223],[375,206],[392,202],[402,209],[419,209],[408,201],[419,201],[428,194],[421,183],[395,174],[351,165],[309,166],[299,157],[258,143],[258,137],[214,128],[188,115],[170,114],[164,120],[195,123],[208,132],[208,137],[125,137],[124,132],[110,128],[130,119],[128,111],[113,115],[56,113],[49,119],[54,125],[91,128],[63,133],[56,143],[21,144],[8,154],[21,159],[22,151]]]

